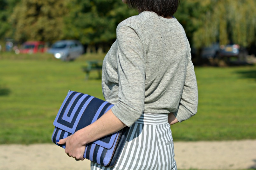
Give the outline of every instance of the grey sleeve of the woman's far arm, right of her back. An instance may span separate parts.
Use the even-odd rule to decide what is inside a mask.
[[[198,105],[198,91],[197,91],[197,80],[194,71],[194,66],[191,61],[191,54],[189,57],[189,63],[187,66],[186,79],[184,88],[180,100],[178,110],[174,112],[174,116],[179,122],[187,120],[191,116],[197,113]]]

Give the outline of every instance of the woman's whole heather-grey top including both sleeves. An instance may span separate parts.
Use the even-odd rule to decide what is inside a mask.
[[[131,126],[143,112],[173,112],[182,122],[197,112],[190,45],[176,18],[145,11],[121,22],[103,61],[102,91],[112,112]]]

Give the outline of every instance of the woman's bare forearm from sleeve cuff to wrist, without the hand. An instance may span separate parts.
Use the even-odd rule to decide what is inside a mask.
[[[87,144],[113,134],[123,129],[125,126],[126,125],[122,123],[110,109],[94,123],[78,130],[76,135],[81,143]]]

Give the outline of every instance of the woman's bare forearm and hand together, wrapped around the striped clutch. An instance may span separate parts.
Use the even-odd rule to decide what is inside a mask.
[[[83,156],[87,143],[113,134],[123,129],[125,126],[126,125],[122,123],[110,109],[94,123],[78,130],[65,139],[59,140],[58,144],[66,143],[65,152],[67,155],[77,160],[84,160]]]

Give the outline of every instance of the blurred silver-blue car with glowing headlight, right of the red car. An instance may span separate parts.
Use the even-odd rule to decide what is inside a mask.
[[[63,61],[75,60],[84,53],[84,47],[76,40],[61,40],[55,42],[48,50],[54,57]]]

